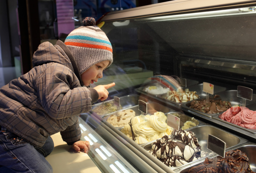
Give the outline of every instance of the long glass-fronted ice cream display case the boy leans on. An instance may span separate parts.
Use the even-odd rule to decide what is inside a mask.
[[[122,97],[118,104],[115,97],[92,105],[81,123],[122,166],[138,172],[188,172],[217,156],[208,149],[209,135],[224,141],[228,153],[245,152],[255,171],[255,129],[239,126],[256,125],[255,7],[248,0],[174,0],[103,15],[97,25],[112,44],[114,61],[99,82],[116,82],[110,97]],[[238,86],[251,89],[252,98],[238,97]],[[252,112],[244,115],[244,109]],[[243,118],[232,118],[234,111]],[[227,113],[239,125],[221,119]],[[178,119],[178,127],[194,125],[177,130],[168,117]],[[95,154],[92,147],[91,157],[104,167]]]

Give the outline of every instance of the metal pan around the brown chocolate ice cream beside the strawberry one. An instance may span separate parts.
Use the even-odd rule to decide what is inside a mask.
[[[215,86],[214,86],[214,89],[215,89]],[[215,98],[216,100],[221,99],[222,101],[229,101],[231,103],[231,106],[242,105],[242,103],[243,103],[243,99],[241,97],[237,97],[237,90],[222,91],[222,92],[219,92],[216,94],[220,96],[218,98]],[[202,99],[206,99],[206,97],[202,98]],[[198,100],[200,100],[200,99],[198,99]],[[202,113],[198,110],[190,108],[191,102],[193,102],[193,101],[184,103],[181,106],[185,109],[191,110],[192,112],[195,112],[195,113],[201,114],[201,115],[205,115],[207,117],[213,117],[213,116],[221,114],[221,113],[216,113],[216,114]],[[249,102],[248,102],[248,104],[249,104]]]

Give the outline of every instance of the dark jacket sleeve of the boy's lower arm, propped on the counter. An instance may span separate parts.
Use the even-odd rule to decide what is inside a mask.
[[[81,138],[81,129],[79,122],[69,126],[66,130],[60,132],[62,140],[67,142],[68,145],[72,145],[74,142],[79,141]]]

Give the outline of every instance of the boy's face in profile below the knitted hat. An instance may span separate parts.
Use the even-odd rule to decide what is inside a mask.
[[[93,82],[97,82],[99,78],[102,78],[103,69],[109,65],[109,62],[109,60],[99,62],[83,72],[81,75],[83,84],[89,86],[90,84],[93,84]]]

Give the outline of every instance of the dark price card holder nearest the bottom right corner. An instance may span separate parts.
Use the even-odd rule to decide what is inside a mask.
[[[211,150],[213,153],[216,153],[219,156],[224,158],[226,153],[226,142],[222,141],[221,139],[211,134],[208,134],[207,149]],[[216,169],[216,163],[217,163],[217,156],[213,158],[214,169]]]

